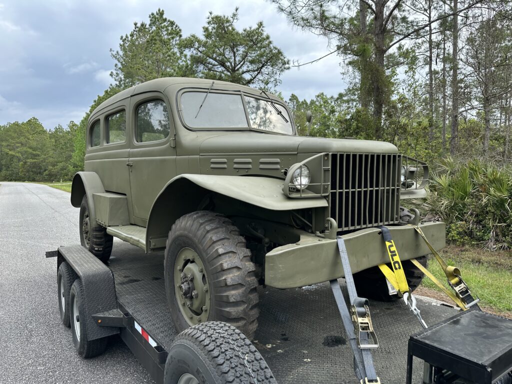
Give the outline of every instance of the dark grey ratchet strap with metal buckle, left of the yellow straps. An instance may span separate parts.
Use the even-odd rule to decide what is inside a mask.
[[[377,336],[373,331],[368,300],[357,296],[345,242],[340,237],[337,238],[337,242],[350,297],[350,311],[337,279],[331,280],[330,283],[334,299],[338,305],[339,314],[342,316],[350,347],[354,353],[354,373],[361,384],[380,384],[370,352],[371,349],[378,348],[378,342]],[[372,337],[373,344],[370,344],[369,336]]]

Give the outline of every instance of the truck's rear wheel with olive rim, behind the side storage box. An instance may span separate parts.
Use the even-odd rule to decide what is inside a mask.
[[[112,243],[114,239],[108,233],[106,228],[98,225],[97,222],[92,223],[89,215],[89,202],[87,195],[83,195],[80,205],[80,244],[89,249],[103,263],[110,259],[112,253]]]

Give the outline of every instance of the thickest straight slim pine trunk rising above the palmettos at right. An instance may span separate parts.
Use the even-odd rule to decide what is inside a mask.
[[[450,138],[450,154],[455,155],[457,134],[459,130],[459,15],[458,0],[453,0],[453,47],[452,47],[452,137]]]

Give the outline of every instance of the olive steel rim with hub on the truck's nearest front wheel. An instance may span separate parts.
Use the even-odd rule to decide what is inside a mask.
[[[190,280],[189,276],[193,279]],[[185,247],[178,252],[174,269],[175,296],[178,307],[189,325],[208,321],[210,311],[210,292],[208,276],[204,264],[191,248]],[[190,287],[190,289],[184,289]],[[194,294],[191,296],[191,294]]]

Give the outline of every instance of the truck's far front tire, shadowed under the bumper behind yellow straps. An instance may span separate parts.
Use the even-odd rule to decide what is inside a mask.
[[[426,267],[427,258],[421,256],[416,260]],[[391,268],[391,264],[388,264]],[[407,284],[414,291],[423,280],[423,272],[421,272],[410,260],[402,261],[403,271],[406,274]],[[354,283],[357,294],[360,297],[370,298],[380,302],[393,302],[399,300],[397,294],[390,295],[386,278],[379,267],[371,267],[360,272],[354,273]]]

